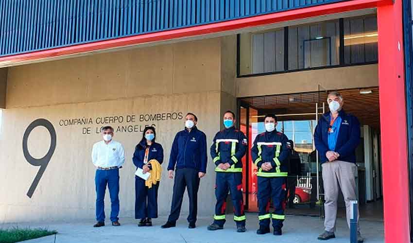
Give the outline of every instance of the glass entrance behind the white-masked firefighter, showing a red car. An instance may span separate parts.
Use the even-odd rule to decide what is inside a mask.
[[[313,140],[318,116],[323,114],[323,104],[320,105],[318,100],[314,96],[309,104],[303,104],[308,110],[301,113],[289,112],[287,108],[277,108],[274,111],[259,109],[248,103],[239,102],[239,126],[248,139],[248,150],[242,159],[244,164],[242,191],[246,211],[258,211],[256,175],[258,168],[252,161],[251,148],[257,135],[265,132],[263,122],[265,114],[275,113],[278,118],[277,131],[283,132],[291,140],[294,149],[289,161],[293,166],[289,168],[286,213],[320,215],[322,205],[319,203],[321,193],[319,185],[322,181],[319,179],[321,174]],[[297,107],[297,104],[295,105]]]

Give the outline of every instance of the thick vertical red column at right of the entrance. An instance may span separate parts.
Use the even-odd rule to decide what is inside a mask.
[[[379,99],[384,238],[410,242],[402,1],[379,6]]]

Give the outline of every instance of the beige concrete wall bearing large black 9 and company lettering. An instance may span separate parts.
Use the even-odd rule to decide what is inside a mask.
[[[99,122],[106,116],[123,118],[122,122],[110,123],[115,128],[114,139],[126,151],[126,163],[120,170],[120,217],[134,216],[132,155],[143,127],[151,124],[156,125],[157,141],[165,149],[158,201],[159,213],[168,214],[172,181],[166,176],[166,167],[173,137],[184,127],[181,115],[198,115],[198,127],[206,133],[208,146],[220,129],[220,52],[221,40],[207,39],[10,68],[0,136],[0,222],[93,219],[95,168],[90,153],[93,143],[102,139],[96,129],[107,124]],[[158,113],[181,115],[172,115],[167,121],[162,118],[168,115],[155,121],[140,120],[141,115],[145,119],[145,114]],[[129,120],[136,117],[126,121],[128,116]],[[39,167],[23,156],[22,138],[28,125],[38,118],[52,122],[57,142],[29,198],[26,193]],[[84,119],[82,123],[86,124],[68,124],[73,119]],[[28,139],[29,152],[35,158],[44,156],[50,144],[44,127],[35,128]],[[201,181],[200,215],[213,215],[212,164],[208,162],[207,175]],[[108,193],[105,200],[109,215]],[[187,216],[187,201],[185,196],[183,217]]]

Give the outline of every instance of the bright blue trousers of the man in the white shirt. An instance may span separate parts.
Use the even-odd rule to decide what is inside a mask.
[[[106,185],[109,188],[110,202],[112,210],[110,212],[110,220],[118,221],[119,215],[119,169],[108,171],[96,170],[95,175],[96,185],[96,220],[104,222],[104,194]]]

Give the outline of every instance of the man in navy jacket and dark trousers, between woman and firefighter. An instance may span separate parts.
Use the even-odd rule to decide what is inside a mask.
[[[188,113],[185,120],[185,129],[178,132],[173,139],[168,165],[168,174],[171,179],[173,170],[176,168],[172,206],[168,222],[162,228],[176,225],[185,187],[189,195],[189,228],[195,228],[199,181],[206,174],[206,135],[196,127],[198,118],[194,114]]]

